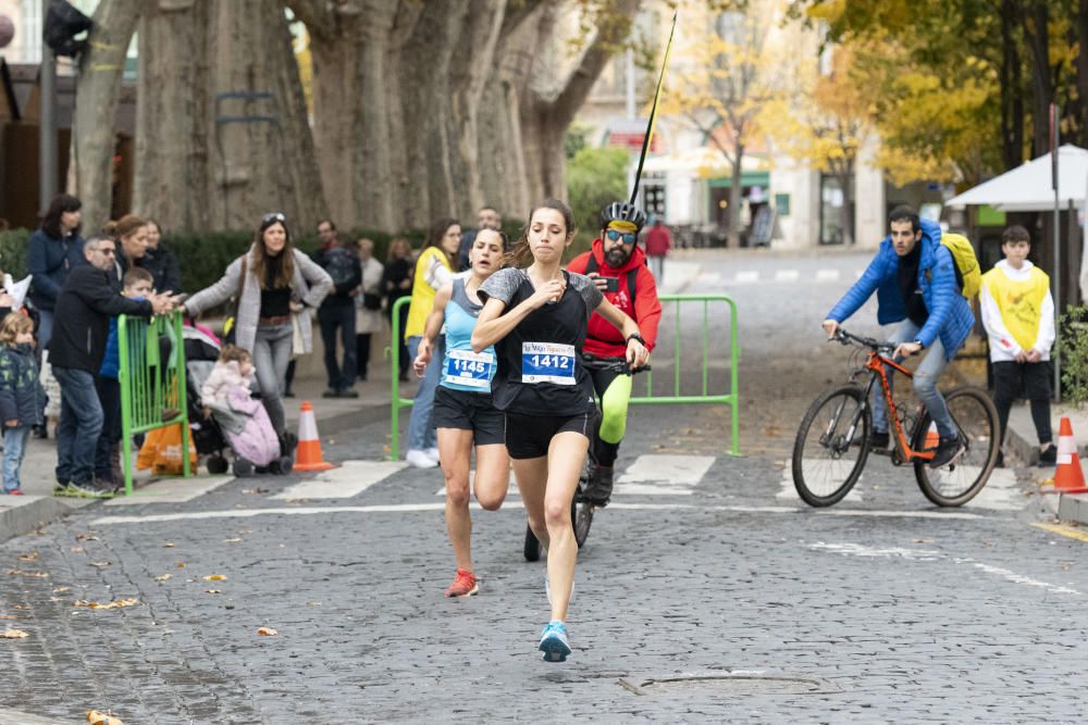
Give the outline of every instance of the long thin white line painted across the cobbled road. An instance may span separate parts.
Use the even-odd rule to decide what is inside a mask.
[[[367,507],[296,507],[290,509],[231,509],[227,511],[194,511],[188,513],[162,513],[146,516],[101,516],[90,522],[91,526],[108,526],[110,524],[158,524],[171,521],[196,521],[200,518],[251,518],[254,516],[299,516],[322,513],[418,513],[423,511],[442,511],[445,502],[432,503],[390,503]],[[482,511],[479,504],[470,508]],[[521,501],[507,501],[506,509],[522,509]],[[746,505],[700,505],[694,503],[611,503],[611,509],[628,509],[632,511],[725,511],[730,513],[782,513],[805,514],[815,516],[885,516],[889,518],[985,518],[974,513],[942,513],[939,511],[865,511],[861,509],[819,510],[798,509],[794,507],[746,507]]]

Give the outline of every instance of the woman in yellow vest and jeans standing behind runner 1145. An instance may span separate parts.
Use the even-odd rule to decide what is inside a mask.
[[[419,342],[423,339],[426,317],[434,307],[434,293],[454,278],[454,259],[461,243],[461,225],[455,218],[440,218],[431,225],[426,246],[416,261],[416,274],[411,288],[411,305],[405,325],[405,343],[408,360],[419,354]],[[426,366],[416,390],[416,403],[408,421],[408,453],[405,460],[417,468],[433,468],[438,465],[438,439],[431,425],[431,409],[434,407],[434,391],[438,387],[442,371],[443,345],[440,338],[434,348],[434,357]]]

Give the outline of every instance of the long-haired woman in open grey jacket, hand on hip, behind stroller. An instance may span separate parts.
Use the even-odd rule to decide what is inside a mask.
[[[185,300],[186,314],[237,298],[235,343],[254,357],[261,400],[280,436],[284,454],[290,454],[283,410],[284,375],[290,362],[293,317],[301,328],[305,352],[312,349],[309,310],[321,305],[333,287],[329,274],[290,243],[283,214],[265,214],[249,251],[231,262],[223,277]]]

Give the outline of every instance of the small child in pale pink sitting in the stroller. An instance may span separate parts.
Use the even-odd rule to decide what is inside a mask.
[[[254,361],[234,345],[223,346],[200,387],[202,418],[213,420],[234,452],[234,475],[286,474],[292,459],[280,454],[280,440],[264,405],[250,393]]]

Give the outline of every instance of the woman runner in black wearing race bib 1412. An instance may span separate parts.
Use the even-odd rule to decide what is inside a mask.
[[[541,635],[544,660],[570,654],[567,604],[578,543],[570,501],[593,435],[593,383],[581,365],[590,315],[597,312],[627,338],[627,361],[646,364],[650,352],[633,320],[604,298],[589,277],[567,273],[562,253],[574,225],[561,201],[533,210],[514,250],[527,268],[506,268],[480,287],[483,311],[472,349],[495,346],[495,407],[506,413],[506,449],[514,460],[529,526],[547,548],[552,618]]]

